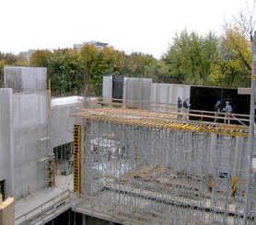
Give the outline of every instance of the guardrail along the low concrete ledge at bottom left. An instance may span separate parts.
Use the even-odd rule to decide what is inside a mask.
[[[70,203],[70,190],[67,189],[64,192],[60,193],[56,197],[52,197],[50,200],[42,203],[40,206],[33,208],[29,212],[17,217],[15,219],[15,224],[30,224],[32,221],[37,219],[43,219],[49,214],[46,213],[51,212],[54,213],[56,210],[60,209],[67,203]]]

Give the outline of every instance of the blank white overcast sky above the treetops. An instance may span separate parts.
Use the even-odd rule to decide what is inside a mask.
[[[1,0],[0,51],[72,48],[97,40],[159,59],[185,28],[221,34],[246,0]]]

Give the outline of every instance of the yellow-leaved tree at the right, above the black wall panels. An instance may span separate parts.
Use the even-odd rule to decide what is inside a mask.
[[[245,31],[226,26],[219,58],[212,64],[212,84],[227,87],[250,86],[250,63],[251,42]]]

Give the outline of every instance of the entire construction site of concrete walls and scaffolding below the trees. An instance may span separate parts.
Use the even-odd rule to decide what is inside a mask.
[[[191,86],[131,77],[104,77],[101,97],[53,99],[35,70],[6,67],[0,89],[0,180],[15,224],[256,224],[250,111],[227,123],[224,112],[178,111]],[[19,210],[40,190],[44,201]]]

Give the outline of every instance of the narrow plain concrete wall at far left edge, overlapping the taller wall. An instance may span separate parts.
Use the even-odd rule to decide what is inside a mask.
[[[0,89],[0,181],[5,180],[5,196],[14,196],[14,145],[12,89]]]

